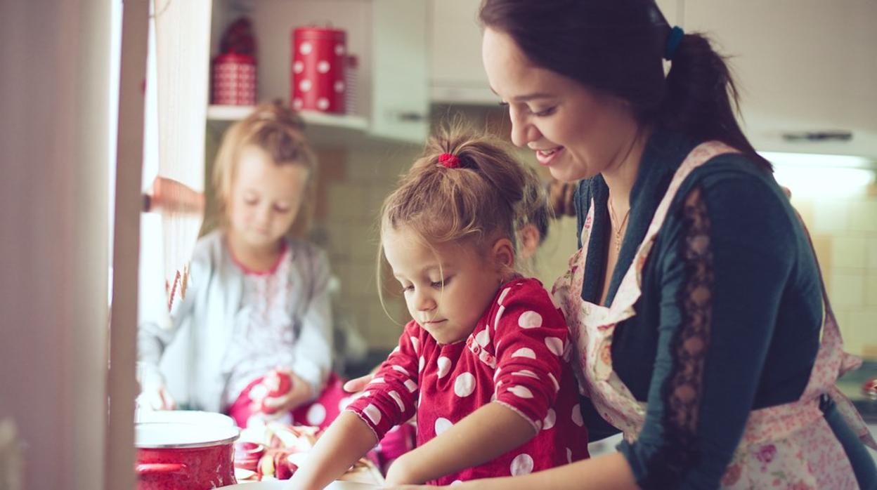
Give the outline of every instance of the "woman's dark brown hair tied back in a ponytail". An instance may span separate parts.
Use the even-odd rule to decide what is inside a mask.
[[[709,39],[686,33],[665,79],[671,27],[653,0],[483,0],[479,18],[535,65],[628,101],[640,123],[722,141],[771,168],[740,129],[737,89]]]

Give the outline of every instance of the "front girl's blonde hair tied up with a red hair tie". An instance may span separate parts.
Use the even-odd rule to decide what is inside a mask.
[[[457,167],[443,165],[440,157],[448,158],[443,155]],[[406,227],[427,245],[460,243],[484,252],[508,238],[517,250],[517,227],[543,206],[545,191],[537,174],[513,156],[508,144],[453,124],[430,138],[424,155],[384,201],[381,236]],[[378,253],[380,258],[382,246]]]

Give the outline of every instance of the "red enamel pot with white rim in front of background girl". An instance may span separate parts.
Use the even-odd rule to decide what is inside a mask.
[[[137,490],[206,490],[234,485],[239,430],[221,425],[136,423]]]

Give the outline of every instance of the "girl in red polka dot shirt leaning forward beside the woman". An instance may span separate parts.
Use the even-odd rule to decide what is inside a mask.
[[[544,199],[492,138],[432,138],[384,202],[381,247],[413,318],[294,481],[322,488],[417,415],[417,448],[388,484],[452,484],[587,458],[567,325],[515,270],[518,217]],[[381,276],[379,271],[378,276]]]

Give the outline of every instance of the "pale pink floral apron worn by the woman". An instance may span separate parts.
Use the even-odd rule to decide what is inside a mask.
[[[642,269],[667,209],[682,181],[712,157],[737,150],[711,141],[695,147],[674,174],[652,217],[645,238],[638,246],[631,267],[624,274],[609,307],[581,299],[588,238],[594,223],[594,202],[581,230],[582,247],[569,260],[569,270],[553,288],[555,300],[567,317],[573,340],[571,362],[582,394],[588,396],[606,421],[624,432],[628,441],[636,440],[645,420],[645,403],[637,401],[612,369],[612,334],[618,323],[636,315],[633,305],[641,294]],[[824,301],[822,341],[809,382],[798,401],[750,413],[743,437],[731,465],[722,478],[723,488],[761,488],[795,485],[801,488],[858,488],[852,465],[844,448],[825,422],[819,408],[823,395],[836,402],[851,429],[867,445],[877,449],[866,424],[834,383],[838,377],[859,367],[861,361],[843,352],[843,342],[831,312],[828,296]]]

